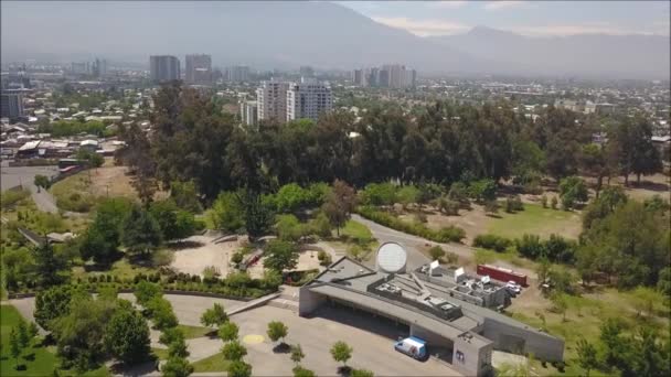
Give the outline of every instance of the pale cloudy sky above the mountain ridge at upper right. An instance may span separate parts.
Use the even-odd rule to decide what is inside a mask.
[[[669,35],[670,2],[661,1],[338,1],[417,35],[467,32],[476,25],[525,35],[578,33]]]

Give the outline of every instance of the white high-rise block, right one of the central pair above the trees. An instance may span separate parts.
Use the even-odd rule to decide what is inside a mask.
[[[287,91],[287,121],[294,119],[317,120],[319,115],[333,107],[331,87],[313,80],[291,84]]]

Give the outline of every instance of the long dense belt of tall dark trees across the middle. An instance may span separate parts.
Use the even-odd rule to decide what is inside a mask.
[[[140,180],[156,177],[166,186],[193,181],[206,203],[222,191],[263,193],[336,179],[355,186],[509,177],[537,185],[543,175],[558,181],[584,172],[600,183],[661,169],[650,123],[638,116],[603,122],[550,106],[532,120],[511,103],[439,101],[409,114],[372,107],[359,120],[337,110],[317,122],[262,121],[258,129],[243,129],[209,97],[179,84],[159,90],[155,104],[149,137],[137,128],[121,130],[128,147],[120,159]],[[592,144],[603,130],[608,142]]]

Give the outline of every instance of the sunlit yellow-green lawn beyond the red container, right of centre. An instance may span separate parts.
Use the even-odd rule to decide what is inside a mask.
[[[499,211],[499,217],[489,222],[488,233],[508,238],[518,238],[524,234],[548,237],[553,233],[577,238],[581,233],[581,216],[576,212],[524,204],[524,211],[514,214]]]

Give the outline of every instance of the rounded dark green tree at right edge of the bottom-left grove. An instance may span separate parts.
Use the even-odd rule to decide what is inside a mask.
[[[149,326],[135,310],[117,310],[105,328],[106,349],[126,365],[149,359]]]

